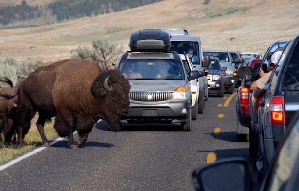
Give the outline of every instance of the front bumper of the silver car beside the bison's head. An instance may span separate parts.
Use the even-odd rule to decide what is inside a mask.
[[[129,112],[121,118],[121,123],[181,123],[186,122],[191,112],[191,101],[169,102],[163,104],[130,103]]]

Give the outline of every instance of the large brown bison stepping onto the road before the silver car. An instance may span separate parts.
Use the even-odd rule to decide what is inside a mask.
[[[129,92],[129,81],[119,70],[102,71],[93,61],[68,59],[40,67],[18,87],[18,143],[23,145],[32,111],[39,112],[36,126],[46,146],[49,141],[43,125],[54,116],[54,128],[59,136],[68,137],[70,148],[87,140],[99,118],[108,122],[110,130],[118,131],[119,118],[129,109]],[[73,138],[75,130],[78,143]]]

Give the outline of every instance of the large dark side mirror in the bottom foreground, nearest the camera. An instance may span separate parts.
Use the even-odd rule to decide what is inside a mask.
[[[222,159],[194,169],[192,182],[195,191],[250,191],[251,172],[242,158]]]

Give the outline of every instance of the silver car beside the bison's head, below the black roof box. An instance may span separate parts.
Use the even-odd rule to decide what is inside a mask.
[[[127,52],[118,69],[131,85],[130,107],[122,123],[180,123],[191,130],[191,87],[189,81],[203,72],[183,67],[175,52]]]

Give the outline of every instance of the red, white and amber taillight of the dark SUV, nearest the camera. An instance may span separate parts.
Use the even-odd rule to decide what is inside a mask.
[[[270,123],[285,124],[284,96],[273,96],[270,104]]]

